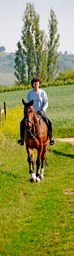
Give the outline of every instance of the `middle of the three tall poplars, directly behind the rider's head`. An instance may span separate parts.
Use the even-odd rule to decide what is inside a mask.
[[[40,30],[39,14],[34,15],[34,35],[35,35],[35,67],[36,76],[42,80],[46,79],[46,35],[44,30]]]

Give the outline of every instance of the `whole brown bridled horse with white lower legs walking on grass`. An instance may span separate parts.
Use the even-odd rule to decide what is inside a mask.
[[[29,173],[31,182],[40,182],[43,178],[43,162],[45,159],[45,153],[47,150],[47,144],[49,143],[49,136],[47,136],[47,127],[42,119],[34,109],[32,99],[30,102],[26,102],[22,99],[24,104],[24,117],[25,117],[25,144],[28,153]],[[35,158],[34,148],[37,149],[37,171],[35,173]],[[40,167],[41,159],[41,168]]]

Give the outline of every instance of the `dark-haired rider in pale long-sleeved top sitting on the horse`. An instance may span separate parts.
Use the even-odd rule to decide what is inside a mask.
[[[53,126],[52,121],[49,116],[46,114],[45,110],[48,107],[48,99],[46,92],[40,88],[41,81],[38,78],[33,78],[31,81],[31,85],[33,87],[32,90],[28,92],[27,102],[34,100],[34,108],[35,111],[42,116],[43,118],[47,118],[48,120],[48,135],[49,135],[49,144],[53,145],[56,143],[55,139],[53,139]],[[25,134],[25,118],[20,122],[20,139],[17,141],[18,144],[24,145],[24,134]]]

